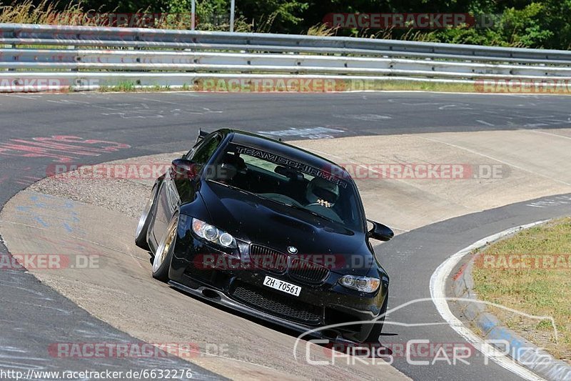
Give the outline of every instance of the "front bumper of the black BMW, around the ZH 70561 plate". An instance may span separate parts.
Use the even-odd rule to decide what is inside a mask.
[[[335,272],[329,272],[320,284],[307,284],[288,277],[288,271],[280,274],[261,268],[198,268],[196,259],[203,255],[230,255],[190,232],[184,237],[179,235],[173,254],[169,271],[169,284],[173,287],[297,332],[317,329],[315,337],[364,341],[373,325],[359,322],[379,317],[388,291],[385,282],[374,294],[347,289],[338,284],[341,275]],[[300,286],[300,295],[295,297],[264,286],[266,275]]]

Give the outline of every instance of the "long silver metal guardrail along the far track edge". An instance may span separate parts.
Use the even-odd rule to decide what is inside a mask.
[[[0,91],[41,78],[77,89],[188,86],[211,77],[571,79],[571,51],[382,39],[0,24],[0,44]]]

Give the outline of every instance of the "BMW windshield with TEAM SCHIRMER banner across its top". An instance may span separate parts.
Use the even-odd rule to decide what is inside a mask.
[[[348,229],[363,229],[353,184],[323,169],[251,147],[229,144],[208,176],[258,197],[318,215]]]

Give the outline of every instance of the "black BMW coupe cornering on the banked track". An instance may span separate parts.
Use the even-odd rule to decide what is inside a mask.
[[[332,325],[320,335],[378,342],[389,279],[369,239],[393,232],[369,222],[342,167],[220,129],[200,132],[156,180],[136,244],[153,277],[191,295],[299,332]]]

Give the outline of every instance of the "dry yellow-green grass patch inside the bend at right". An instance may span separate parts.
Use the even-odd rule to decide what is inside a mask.
[[[500,308],[490,308],[507,327],[556,357],[571,362],[571,218],[524,230],[491,244],[478,254],[486,256],[476,261],[473,271],[475,291],[480,300],[529,315],[553,317],[558,343],[550,320],[539,321]],[[522,254],[532,258],[528,268],[484,264],[488,259],[492,261],[489,263],[509,263],[510,258],[517,259],[513,262],[515,264],[521,263]],[[543,266],[543,262],[539,262],[540,266],[535,265],[536,258],[542,261],[550,257],[562,261],[556,262],[557,266]]]

